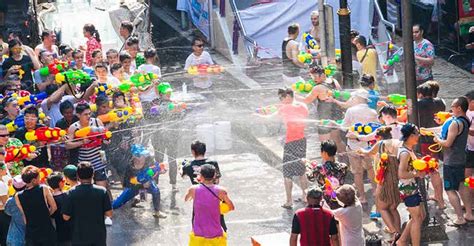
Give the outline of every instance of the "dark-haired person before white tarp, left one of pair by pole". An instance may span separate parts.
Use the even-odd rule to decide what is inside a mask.
[[[300,68],[304,67],[304,64],[298,61],[300,50],[296,41],[299,32],[300,26],[291,24],[288,26],[288,37],[282,43],[283,82],[288,86],[302,79]]]

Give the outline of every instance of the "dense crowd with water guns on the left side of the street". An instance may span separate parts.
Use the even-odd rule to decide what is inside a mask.
[[[180,121],[185,107],[171,100],[156,50],[140,50],[133,29],[122,22],[124,44],[109,50],[93,24],[84,25],[79,47],[57,45],[51,30],[34,48],[16,33],[0,39],[0,245],[106,245],[113,210],[129,201],[136,206],[146,193],[153,216],[167,217],[158,177],[168,172],[178,191],[179,136],[161,126]],[[204,45],[193,40],[187,67],[213,64]],[[193,238],[224,238],[223,216],[206,215],[221,201],[233,209],[225,189],[214,185],[218,164],[204,157],[202,142],[193,142],[191,152],[196,159],[183,175],[195,185],[187,196],[195,203]],[[123,191],[114,198],[110,185],[117,182]]]

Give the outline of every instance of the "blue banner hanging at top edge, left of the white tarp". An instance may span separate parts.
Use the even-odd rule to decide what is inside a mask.
[[[191,21],[199,31],[201,31],[207,40],[210,41],[210,0],[187,0],[187,12]]]

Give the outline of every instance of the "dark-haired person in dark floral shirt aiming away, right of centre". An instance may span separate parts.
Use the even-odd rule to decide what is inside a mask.
[[[347,174],[348,166],[345,163],[336,162],[337,145],[332,140],[327,140],[321,143],[321,158],[322,164],[318,165],[313,171],[313,174],[317,176],[316,180],[320,186],[325,186],[326,178],[335,178],[337,182],[342,185],[344,184],[344,178]],[[337,187],[332,187],[336,189]],[[331,208],[339,207],[334,197],[328,193],[328,187],[325,187],[324,199]]]

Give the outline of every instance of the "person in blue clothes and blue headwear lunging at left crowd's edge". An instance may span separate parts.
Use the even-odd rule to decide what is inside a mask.
[[[149,166],[146,165],[147,161],[151,160],[150,152],[145,149],[143,145],[134,144],[131,148],[132,151],[132,165],[129,166],[125,173],[123,192],[115,199],[112,203],[113,209],[118,209],[127,203],[129,200],[138,195],[139,190],[142,188],[147,189],[153,196],[153,217],[155,218],[166,218],[166,215],[160,212],[160,189],[154,181],[154,177],[163,174],[166,170],[161,168],[153,168],[151,170],[157,171],[153,177],[143,175],[150,171]]]

